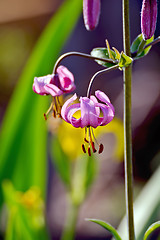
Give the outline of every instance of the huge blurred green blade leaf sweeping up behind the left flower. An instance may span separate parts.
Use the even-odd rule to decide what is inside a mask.
[[[35,76],[52,72],[81,5],[81,0],[64,2],[42,33],[19,79],[1,127],[0,182],[12,178],[16,188],[37,185],[45,192],[47,133],[43,113],[48,97],[33,93],[32,83]]]

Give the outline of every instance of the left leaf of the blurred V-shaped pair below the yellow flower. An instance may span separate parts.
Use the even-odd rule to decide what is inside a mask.
[[[52,141],[52,161],[56,167],[56,170],[61,177],[64,184],[70,188],[71,186],[71,161],[68,156],[62,150],[60,142],[57,137]]]

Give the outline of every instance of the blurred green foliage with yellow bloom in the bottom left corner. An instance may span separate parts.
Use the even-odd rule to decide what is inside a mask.
[[[7,209],[5,239],[48,239],[44,225],[44,203],[38,188],[32,187],[27,192],[19,192],[10,181],[4,181],[2,187]],[[35,218],[37,224],[34,224]]]

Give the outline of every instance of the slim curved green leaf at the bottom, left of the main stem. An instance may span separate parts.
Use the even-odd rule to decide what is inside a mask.
[[[115,237],[116,240],[122,240],[121,237],[119,236],[118,232],[116,231],[116,229],[114,227],[112,227],[109,223],[106,223],[106,222],[104,222],[102,220],[99,220],[99,219],[87,218],[86,220],[99,224],[101,227],[108,230]]]

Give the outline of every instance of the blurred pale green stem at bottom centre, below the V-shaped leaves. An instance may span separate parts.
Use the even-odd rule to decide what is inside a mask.
[[[70,201],[61,240],[74,240],[79,206]]]

